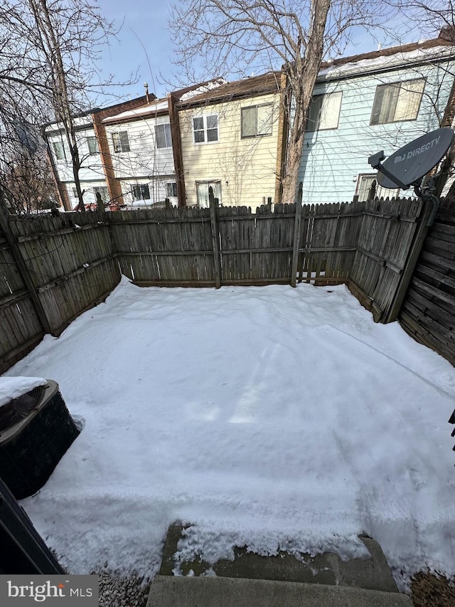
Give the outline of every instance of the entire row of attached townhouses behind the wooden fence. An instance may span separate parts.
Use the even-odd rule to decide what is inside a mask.
[[[304,203],[366,199],[368,157],[454,119],[454,46],[439,38],[323,63],[309,109],[299,181]],[[279,202],[286,153],[285,78],[215,78],[168,97],[139,97],[76,117],[85,204],[225,206]],[[454,88],[455,90],[455,88]],[[58,125],[46,129],[65,208],[77,204]],[[378,196],[397,191],[376,188]],[[407,195],[411,191],[407,192]]]

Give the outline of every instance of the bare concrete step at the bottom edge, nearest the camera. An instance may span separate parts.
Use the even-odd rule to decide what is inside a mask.
[[[156,576],[146,607],[412,607],[405,594],[228,577]]]

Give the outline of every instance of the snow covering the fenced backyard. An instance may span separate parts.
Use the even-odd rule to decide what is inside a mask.
[[[455,574],[455,370],[346,287],[141,289],[126,279],[6,375],[85,418],[23,500],[73,573],[156,572],[168,524],[215,560],[247,545]]]

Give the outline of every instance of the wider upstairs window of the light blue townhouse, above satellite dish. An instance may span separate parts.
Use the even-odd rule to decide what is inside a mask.
[[[380,84],[376,88],[370,125],[385,125],[399,120],[416,120],[424,93],[425,80]]]

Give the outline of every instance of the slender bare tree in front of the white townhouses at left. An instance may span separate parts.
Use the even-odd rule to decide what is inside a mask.
[[[0,102],[35,120],[55,120],[73,167],[79,209],[85,210],[74,116],[100,90],[97,59],[117,33],[88,0],[0,0]],[[0,110],[0,120],[9,115]],[[30,118],[28,118],[30,120]]]

